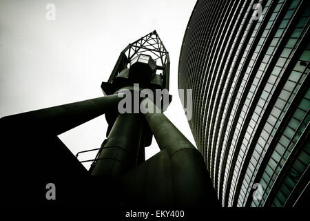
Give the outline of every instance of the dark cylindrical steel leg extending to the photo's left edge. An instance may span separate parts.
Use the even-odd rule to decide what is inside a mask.
[[[37,111],[29,111],[17,115],[2,117],[1,126],[25,127],[27,131],[46,131],[59,135],[90,119],[103,115],[106,111],[118,105],[123,99],[118,95],[109,95],[87,99],[82,102],[74,102]]]

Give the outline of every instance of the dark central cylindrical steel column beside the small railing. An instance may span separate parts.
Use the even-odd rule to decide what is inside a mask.
[[[118,115],[91,171],[92,175],[118,177],[136,166],[143,120],[141,114]]]

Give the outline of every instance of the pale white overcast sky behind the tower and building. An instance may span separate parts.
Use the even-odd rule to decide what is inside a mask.
[[[45,19],[48,3],[56,6],[54,21]],[[180,46],[195,3],[0,0],[0,117],[103,96],[101,81],[109,78],[121,50],[156,30],[171,62],[173,99],[165,115],[195,144],[178,97],[177,77]],[[99,148],[106,130],[102,115],[59,137],[75,155]],[[153,139],[145,148],[146,158],[158,151]]]

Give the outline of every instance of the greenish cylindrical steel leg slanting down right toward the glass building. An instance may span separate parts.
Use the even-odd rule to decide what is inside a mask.
[[[158,109],[148,99],[149,110]],[[167,151],[174,200],[180,206],[220,206],[203,156],[163,113],[145,113],[161,151]]]

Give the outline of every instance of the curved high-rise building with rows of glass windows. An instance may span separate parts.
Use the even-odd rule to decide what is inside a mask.
[[[309,3],[201,0],[189,19],[178,87],[223,206],[310,201]]]

